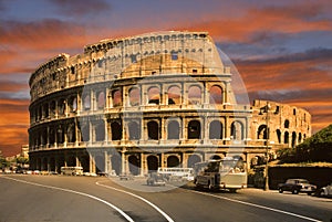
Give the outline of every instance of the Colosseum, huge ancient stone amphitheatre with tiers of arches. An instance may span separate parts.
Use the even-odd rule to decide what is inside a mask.
[[[102,40],[32,73],[31,169],[146,175],[225,156],[247,168],[311,135],[311,116],[237,103],[232,68],[207,32]]]

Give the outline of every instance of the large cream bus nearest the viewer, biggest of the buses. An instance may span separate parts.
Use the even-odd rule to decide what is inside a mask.
[[[194,183],[197,188],[227,189],[236,192],[238,189],[247,188],[247,179],[242,159],[226,157],[197,162],[194,167]]]

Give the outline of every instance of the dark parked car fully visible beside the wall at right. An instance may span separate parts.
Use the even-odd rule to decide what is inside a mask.
[[[315,192],[317,186],[310,184],[305,179],[288,179],[284,183],[278,184],[279,192],[290,191],[293,194],[298,194],[299,192],[308,193],[311,195]]]

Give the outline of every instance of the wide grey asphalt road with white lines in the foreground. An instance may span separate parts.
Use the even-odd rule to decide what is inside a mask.
[[[129,188],[133,189],[129,189]],[[198,191],[147,187],[144,179],[0,176],[0,222],[39,221],[326,221],[332,200],[245,189]]]

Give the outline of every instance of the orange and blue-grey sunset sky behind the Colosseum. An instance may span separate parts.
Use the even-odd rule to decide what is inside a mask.
[[[41,63],[169,30],[209,32],[251,102],[309,110],[314,134],[332,123],[331,11],[331,0],[0,0],[0,150],[28,144],[28,82]]]

